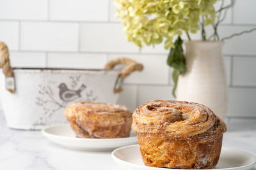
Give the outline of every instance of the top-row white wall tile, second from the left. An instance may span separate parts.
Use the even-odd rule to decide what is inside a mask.
[[[50,20],[108,21],[108,0],[51,0]]]

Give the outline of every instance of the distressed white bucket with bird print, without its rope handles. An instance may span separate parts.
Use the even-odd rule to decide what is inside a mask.
[[[119,73],[118,70],[14,69],[14,94],[6,90],[1,73],[0,96],[6,123],[14,129],[42,129],[65,123],[65,106],[72,101],[116,103],[118,94],[113,89]],[[68,90],[76,91],[77,95],[68,96]]]

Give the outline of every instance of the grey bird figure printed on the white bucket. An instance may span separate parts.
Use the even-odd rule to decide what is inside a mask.
[[[61,100],[65,102],[70,102],[81,97],[81,92],[86,88],[86,85],[81,85],[81,87],[77,90],[68,89],[65,83],[60,83],[58,87],[60,89],[59,95]]]

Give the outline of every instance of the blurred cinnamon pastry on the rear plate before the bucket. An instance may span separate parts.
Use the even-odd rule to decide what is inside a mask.
[[[74,102],[65,117],[77,138],[125,138],[131,131],[131,111],[116,104]]]

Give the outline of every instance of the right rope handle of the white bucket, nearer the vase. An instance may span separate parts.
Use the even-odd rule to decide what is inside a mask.
[[[114,88],[115,93],[120,93],[124,90],[122,89],[122,83],[124,82],[124,78],[129,76],[133,71],[143,70],[142,64],[134,60],[128,59],[126,57],[110,60],[106,64],[105,69],[113,69],[113,67],[115,67],[118,64],[125,64],[127,66],[120,72],[120,74],[118,75],[118,78],[116,79],[115,88]]]

